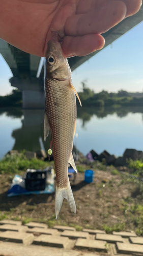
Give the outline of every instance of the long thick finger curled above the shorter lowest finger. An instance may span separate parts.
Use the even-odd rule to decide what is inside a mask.
[[[126,5],[121,1],[111,1],[89,13],[70,16],[65,24],[65,33],[70,36],[105,33],[121,22],[125,15]]]

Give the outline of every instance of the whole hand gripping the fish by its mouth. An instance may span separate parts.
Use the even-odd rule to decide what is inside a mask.
[[[135,14],[141,0],[0,0],[0,36],[44,56],[51,29],[64,32],[64,54],[83,56],[104,46],[100,35]]]

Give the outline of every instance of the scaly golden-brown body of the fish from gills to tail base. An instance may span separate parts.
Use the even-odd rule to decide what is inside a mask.
[[[75,93],[72,89],[69,90],[69,87],[61,86],[60,81],[50,79],[45,80],[45,89],[45,113],[51,131],[56,184],[59,188],[63,188],[68,185],[67,168],[76,120]]]

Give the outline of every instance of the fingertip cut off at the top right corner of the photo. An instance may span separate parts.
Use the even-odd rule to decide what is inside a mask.
[[[121,1],[124,2],[124,4],[127,7],[126,17],[132,16],[133,14],[138,12],[142,5],[142,0],[121,0]]]

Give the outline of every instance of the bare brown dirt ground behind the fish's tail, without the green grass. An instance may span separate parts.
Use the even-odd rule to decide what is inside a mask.
[[[132,207],[138,199],[132,197],[133,181],[126,175],[112,175],[110,172],[95,170],[94,182],[85,183],[84,173],[78,173],[76,184],[71,186],[76,203],[74,215],[66,200],[63,202],[58,221],[55,219],[55,194],[7,197],[7,191],[13,176],[0,175],[0,218],[35,220],[46,222],[50,227],[56,224],[115,230],[136,230],[134,218],[139,212]],[[140,209],[143,211],[143,209]]]

